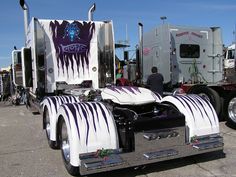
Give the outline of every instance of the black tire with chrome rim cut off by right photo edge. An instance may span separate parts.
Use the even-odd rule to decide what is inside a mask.
[[[230,93],[224,102],[224,115],[227,124],[232,128],[236,128],[236,92]]]

